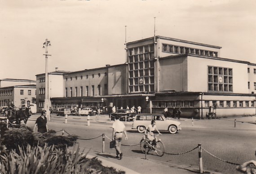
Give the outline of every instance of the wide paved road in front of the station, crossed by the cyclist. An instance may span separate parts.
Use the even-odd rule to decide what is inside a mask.
[[[27,126],[33,126],[36,117],[34,115],[27,122]],[[103,133],[111,139],[112,123],[109,122],[108,116],[102,115],[99,117],[99,122],[95,121],[95,116],[91,116],[90,126],[87,126],[87,117],[69,116],[68,123],[65,124],[65,117],[53,116],[48,122],[49,129],[56,131],[63,128],[69,134],[79,135],[79,147],[102,152],[102,137],[92,140],[82,140],[95,138]],[[237,120],[234,127],[234,119]],[[250,123],[247,123],[250,122]],[[202,148],[212,155],[235,164],[242,164],[244,161],[255,159],[254,152],[256,150],[256,117],[237,117],[223,118],[216,120],[185,120],[181,119],[182,130],[174,135],[168,132],[161,132],[159,138],[165,145],[165,151],[168,153],[179,153],[179,155],[165,154],[163,157],[158,157],[154,152],[150,152],[147,158],[160,161],[165,164],[175,164],[191,166],[199,168],[198,148],[191,149],[202,145]],[[128,131],[128,140],[123,140],[124,145],[138,144],[143,137],[143,134],[137,130],[132,130],[132,122],[125,123]],[[67,133],[65,132],[65,135]],[[58,132],[59,135],[62,131]],[[105,140],[105,153],[115,154],[115,149],[109,148],[110,140]],[[220,172],[223,174],[237,173],[236,165],[221,161],[212,155],[209,155],[203,150],[203,170]],[[145,158],[145,154],[141,153],[140,146],[122,146],[122,151],[125,156]],[[184,153],[184,154],[183,154]]]

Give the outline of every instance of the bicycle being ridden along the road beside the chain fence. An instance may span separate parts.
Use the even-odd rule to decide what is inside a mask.
[[[162,157],[164,154],[164,145],[161,141],[161,139],[157,139],[158,135],[154,135],[154,139],[156,141],[156,145],[152,145],[152,141],[149,139],[146,139],[146,136],[141,139],[141,151],[143,153],[148,153],[149,151],[154,150],[157,156]],[[151,143],[150,143],[151,142]]]

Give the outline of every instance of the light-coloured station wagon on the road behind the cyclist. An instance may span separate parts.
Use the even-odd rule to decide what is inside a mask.
[[[167,130],[171,134],[177,133],[181,130],[181,123],[175,120],[167,120],[163,114],[158,113],[141,113],[135,116],[132,123],[132,129],[137,129],[138,132],[143,133],[147,126],[151,124],[151,120],[155,120],[157,129]]]

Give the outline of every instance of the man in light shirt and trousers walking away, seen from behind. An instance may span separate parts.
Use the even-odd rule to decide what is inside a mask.
[[[119,116],[115,118],[115,122],[113,123],[113,136],[112,139],[115,140],[115,150],[116,150],[116,158],[119,158],[120,160],[123,157],[123,153],[121,152],[121,141],[123,137],[123,133],[125,135],[125,140],[128,139],[125,126],[123,122],[120,122]]]

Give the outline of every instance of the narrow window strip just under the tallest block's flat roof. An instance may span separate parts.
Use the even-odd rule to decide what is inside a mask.
[[[180,54],[197,54],[197,55],[202,55],[202,56],[218,57],[218,52],[197,49],[197,48],[181,47],[178,45],[170,45],[170,44],[165,44],[165,43],[163,43],[162,51],[163,52],[180,53]]]

